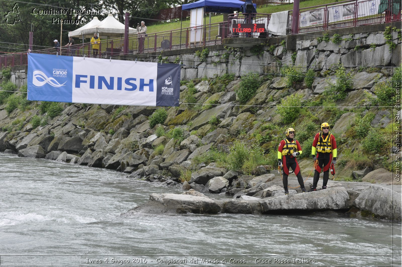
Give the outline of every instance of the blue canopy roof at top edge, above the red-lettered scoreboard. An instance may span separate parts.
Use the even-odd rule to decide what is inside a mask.
[[[191,4],[181,6],[182,10],[200,8],[205,6],[205,12],[233,13],[239,11],[244,2],[240,0],[199,0]],[[256,4],[254,4],[256,7]]]

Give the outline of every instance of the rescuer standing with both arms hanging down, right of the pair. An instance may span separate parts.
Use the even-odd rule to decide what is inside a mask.
[[[321,169],[324,171],[322,179],[322,189],[326,189],[331,164],[336,164],[336,141],[335,137],[329,132],[329,124],[321,124],[321,131],[316,134],[311,148],[311,154],[315,165],[313,186],[311,191],[316,191]]]

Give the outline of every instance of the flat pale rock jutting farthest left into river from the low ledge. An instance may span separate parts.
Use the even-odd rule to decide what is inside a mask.
[[[179,194],[151,194],[145,204],[129,210],[130,213],[194,213],[217,214],[221,208],[207,197]]]

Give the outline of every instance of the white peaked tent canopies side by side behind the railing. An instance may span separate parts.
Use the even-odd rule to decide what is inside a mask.
[[[94,21],[95,18],[92,21]],[[90,27],[86,27],[85,29],[82,29],[85,26],[81,27],[80,29],[70,32],[70,33],[74,33],[78,30],[81,30],[80,35],[73,36],[73,35],[70,35],[70,33],[69,33],[68,36],[81,37],[82,35],[84,35],[84,37],[90,38],[94,35],[94,33],[98,33],[100,35],[99,36],[100,39],[105,38],[105,37],[124,37],[124,24],[120,23],[117,19],[115,19],[112,14],[107,15],[107,17],[103,21],[100,21],[99,23],[96,23],[96,24],[94,23]],[[129,35],[137,34],[137,30],[129,27],[128,34]]]

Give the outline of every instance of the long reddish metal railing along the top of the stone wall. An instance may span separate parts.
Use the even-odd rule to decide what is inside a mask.
[[[392,10],[388,4],[388,10]],[[357,27],[383,22],[401,21],[399,14],[383,12],[378,14],[377,2],[374,0],[343,1],[309,8],[299,9],[299,26],[297,33],[325,31],[344,27]],[[292,25],[292,10],[288,12],[287,29]],[[188,27],[147,35],[136,35],[128,38],[128,54],[157,52],[189,47],[204,47],[221,44],[224,38],[258,37],[267,38],[266,33],[236,33],[233,25],[237,23],[264,24],[268,28],[271,14],[230,14],[228,21],[209,25]],[[238,25],[237,25],[238,26]],[[70,48],[48,48],[32,51],[32,53],[62,54],[94,57],[94,49],[90,43],[74,45]],[[102,40],[99,45],[98,58],[110,58],[124,54],[124,38]],[[27,53],[11,53],[0,56],[0,68],[27,65]]]

